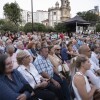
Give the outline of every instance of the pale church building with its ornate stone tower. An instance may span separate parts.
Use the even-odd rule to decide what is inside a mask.
[[[59,6],[59,2],[56,2],[55,7],[48,9],[49,26],[54,27],[57,23],[68,20],[70,18],[70,11],[69,0],[61,0],[61,6]]]

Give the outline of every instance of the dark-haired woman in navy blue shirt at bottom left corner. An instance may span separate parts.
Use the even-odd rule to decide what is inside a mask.
[[[11,58],[0,55],[0,100],[30,100],[32,94],[28,90],[20,92],[26,84],[22,75],[13,70]]]

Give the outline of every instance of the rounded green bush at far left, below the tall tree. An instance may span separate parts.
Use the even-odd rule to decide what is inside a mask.
[[[17,32],[17,26],[12,22],[7,21],[1,26],[1,30],[10,31],[10,32]]]

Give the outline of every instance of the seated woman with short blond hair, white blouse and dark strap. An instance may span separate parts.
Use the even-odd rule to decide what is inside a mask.
[[[43,100],[58,100],[55,93],[59,91],[54,87],[49,87],[49,80],[39,75],[38,71],[32,63],[27,52],[21,51],[17,54],[17,61],[19,64],[18,71],[28,81],[31,87],[35,90],[35,96]],[[49,88],[49,89],[48,89]],[[60,93],[60,92],[59,92]],[[59,96],[60,94],[58,94]]]

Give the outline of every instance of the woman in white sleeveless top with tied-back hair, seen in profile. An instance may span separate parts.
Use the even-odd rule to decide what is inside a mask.
[[[72,86],[76,95],[76,100],[92,100],[96,87],[90,85],[85,73],[90,69],[90,62],[86,56],[80,55],[76,58],[78,72],[73,77]]]

